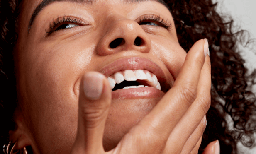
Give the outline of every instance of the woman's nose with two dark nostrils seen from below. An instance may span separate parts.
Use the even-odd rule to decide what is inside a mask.
[[[128,50],[147,53],[150,49],[151,40],[137,22],[119,19],[109,24],[98,43],[97,54],[104,56]]]

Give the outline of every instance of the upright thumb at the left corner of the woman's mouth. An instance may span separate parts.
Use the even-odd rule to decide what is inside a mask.
[[[106,77],[87,72],[80,84],[78,132],[72,154],[102,154],[102,138],[111,103]]]

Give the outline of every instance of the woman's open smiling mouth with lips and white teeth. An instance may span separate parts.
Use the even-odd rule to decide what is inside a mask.
[[[145,58],[121,58],[106,65],[100,72],[107,77],[113,93],[128,89],[166,93],[171,88],[161,67]]]

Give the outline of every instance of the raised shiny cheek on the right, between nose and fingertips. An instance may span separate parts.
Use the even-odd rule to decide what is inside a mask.
[[[178,42],[170,40],[154,40],[153,48],[155,56],[162,60],[174,79],[178,76],[185,61],[187,53],[180,47]]]

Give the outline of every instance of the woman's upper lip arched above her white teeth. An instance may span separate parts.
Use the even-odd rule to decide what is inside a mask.
[[[129,58],[120,58],[113,61],[110,64],[105,65],[100,69],[100,73],[109,77],[115,72],[122,70],[148,70],[156,75],[158,82],[161,85],[161,90],[167,92],[171,87],[167,82],[166,76],[163,73],[161,67],[151,60],[141,58],[141,57],[129,57]]]

